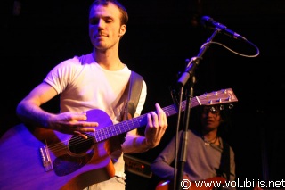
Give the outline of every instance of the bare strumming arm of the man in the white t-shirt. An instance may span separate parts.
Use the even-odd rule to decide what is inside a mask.
[[[86,122],[85,112],[63,112],[54,114],[45,112],[41,105],[51,100],[57,92],[45,82],[35,87],[17,106],[16,113],[25,123],[41,128],[51,128],[62,133],[82,136],[94,132],[97,122]]]

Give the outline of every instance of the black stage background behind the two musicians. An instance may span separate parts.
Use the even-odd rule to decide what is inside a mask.
[[[45,78],[59,62],[75,54],[88,54],[88,6],[92,1],[2,1],[1,16],[1,135],[20,123],[17,103]],[[139,72],[148,85],[143,112],[173,104],[169,87],[183,72],[185,60],[196,56],[200,46],[213,34],[199,23],[208,15],[246,37],[256,48],[232,37],[218,34],[221,45],[211,45],[196,70],[195,95],[232,88],[239,99],[232,115],[228,136],[235,151],[240,180],[281,180],[284,178],[283,72],[285,2],[283,0],[157,0],[121,1],[129,13],[126,35],[120,43],[120,57],[131,70]],[[17,5],[18,4],[18,5]],[[17,8],[18,7],[18,8]],[[19,9],[20,7],[20,9]],[[58,111],[58,99],[45,109]],[[175,134],[177,118],[161,144],[147,153],[134,154],[151,162]],[[132,175],[132,174],[129,174]],[[140,179],[151,189],[156,179]],[[145,181],[143,181],[145,180]],[[129,186],[132,186],[130,182]],[[154,181],[154,182],[153,182]],[[139,188],[136,184],[136,188]]]

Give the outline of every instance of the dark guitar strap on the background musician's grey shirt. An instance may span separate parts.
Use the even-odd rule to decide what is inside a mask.
[[[222,177],[223,173],[226,174],[226,179],[230,180],[230,145],[223,139],[223,152],[221,156],[220,168],[216,171],[217,176]]]

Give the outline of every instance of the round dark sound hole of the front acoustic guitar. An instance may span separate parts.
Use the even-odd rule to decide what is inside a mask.
[[[89,134],[87,139],[79,136],[72,136],[69,140],[69,151],[71,153],[86,153],[94,145],[94,139]]]

